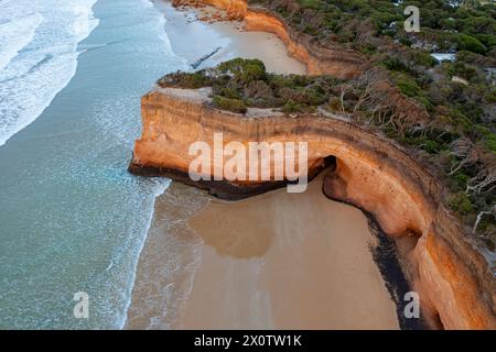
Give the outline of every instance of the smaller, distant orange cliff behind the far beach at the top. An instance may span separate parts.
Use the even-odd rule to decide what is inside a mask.
[[[247,31],[262,31],[279,36],[288,53],[306,65],[310,75],[327,74],[351,78],[368,67],[356,52],[341,47],[322,47],[311,36],[292,30],[277,13],[248,7],[245,0],[175,0],[175,6],[206,3],[226,10],[229,19],[244,20]]]

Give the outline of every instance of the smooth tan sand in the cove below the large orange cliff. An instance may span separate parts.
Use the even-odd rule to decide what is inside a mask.
[[[398,328],[366,218],[321,185],[212,200],[190,220],[204,245],[182,328]]]

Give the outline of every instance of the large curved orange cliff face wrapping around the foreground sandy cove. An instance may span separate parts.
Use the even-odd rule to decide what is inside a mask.
[[[308,142],[310,173],[327,156],[336,165],[323,184],[330,198],[371,213],[387,234],[418,241],[405,254],[412,287],[431,324],[446,329],[496,328],[496,287],[485,258],[440,204],[442,188],[425,168],[380,136],[345,121],[316,116],[285,117],[249,109],[246,116],[212,109],[209,88],[157,88],[142,98],[143,134],[130,170],[168,176],[225,198],[241,198],[283,184],[192,182],[190,145],[248,142]],[[272,161],[272,166],[273,166]],[[269,169],[272,173],[273,168]],[[211,168],[212,170],[212,168]]]

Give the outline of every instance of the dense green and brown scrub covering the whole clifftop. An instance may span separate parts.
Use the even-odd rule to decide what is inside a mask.
[[[496,242],[496,6],[474,1],[248,1],[278,13],[323,47],[362,53],[370,68],[352,79],[274,75],[258,59],[175,73],[162,87],[213,88],[213,105],[288,114],[345,117],[380,131],[443,182],[444,204],[490,250]],[[403,30],[405,7],[421,31]],[[438,62],[431,53],[455,54]]]

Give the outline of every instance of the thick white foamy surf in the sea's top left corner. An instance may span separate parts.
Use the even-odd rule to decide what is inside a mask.
[[[32,123],[76,73],[96,0],[0,2],[0,146]]]

